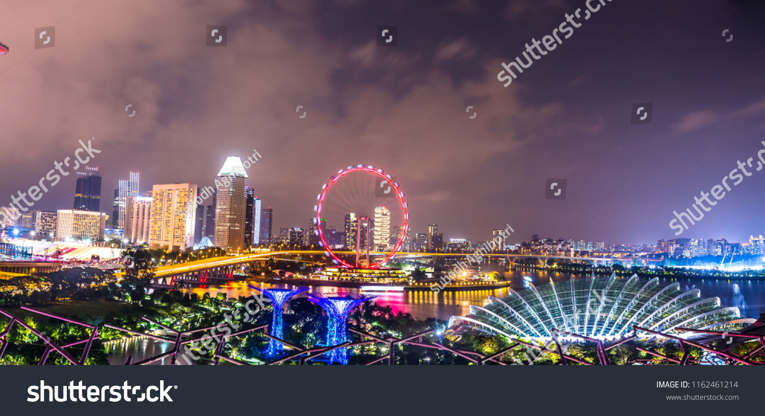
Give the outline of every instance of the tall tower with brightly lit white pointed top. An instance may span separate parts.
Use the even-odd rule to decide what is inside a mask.
[[[229,156],[215,181],[215,246],[228,252],[244,249],[247,173],[242,160]]]

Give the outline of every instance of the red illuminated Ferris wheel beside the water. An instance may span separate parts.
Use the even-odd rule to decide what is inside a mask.
[[[333,247],[329,242],[327,241],[327,236],[325,236],[325,230],[324,227],[321,226],[322,224],[322,209],[323,207],[326,208],[326,202],[327,202],[327,193],[330,191],[330,189],[333,187],[333,185],[337,184],[338,181],[340,181],[340,178],[344,178],[343,181],[349,180],[348,177],[350,174],[353,174],[354,176],[359,175],[366,175],[367,177],[373,178],[376,180],[376,184],[379,184],[379,188],[381,189],[381,193],[384,193],[385,197],[391,197],[392,200],[397,201],[396,207],[400,207],[400,218],[401,218],[401,224],[399,235],[396,236],[395,242],[393,242],[393,239],[391,239],[391,243],[389,245],[389,250],[386,250],[384,257],[379,260],[378,262],[369,262],[369,222],[370,218],[369,216],[358,216],[354,219],[354,230],[355,230],[355,236],[347,235],[347,245],[353,247],[354,251],[356,252],[356,264],[353,265],[350,262],[347,262],[346,260],[343,260],[343,258],[340,258],[334,251]],[[342,187],[342,185],[340,185]],[[376,186],[377,187],[377,186]],[[382,190],[385,188],[385,190]],[[349,166],[346,169],[340,169],[340,171],[337,171],[337,174],[333,177],[331,177],[330,182],[328,184],[324,184],[321,187],[321,193],[318,194],[317,200],[319,201],[316,206],[314,206],[314,211],[316,212],[316,218],[315,222],[318,225],[316,227],[315,233],[317,236],[319,236],[319,239],[321,239],[321,242],[319,244],[324,248],[324,254],[327,255],[327,257],[332,258],[332,262],[336,265],[340,265],[340,267],[343,268],[380,268],[382,265],[385,265],[386,262],[388,262],[394,255],[396,255],[396,252],[401,249],[402,244],[404,243],[404,240],[406,238],[406,231],[409,229],[409,213],[407,213],[407,204],[404,201],[404,193],[399,188],[399,184],[396,183],[396,181],[393,180],[393,178],[389,174],[385,174],[385,171],[382,171],[382,169],[376,169],[374,166],[365,166],[363,164],[359,164],[356,166]],[[397,213],[398,214],[398,213]],[[369,214],[367,214],[369,215]],[[363,223],[366,221],[366,232],[362,233],[363,229]],[[363,234],[363,236],[362,236]],[[363,241],[363,239],[366,239],[366,244]],[[350,244],[350,242],[355,242],[353,244]],[[363,248],[366,248],[366,263],[360,264],[359,258],[362,254]]]

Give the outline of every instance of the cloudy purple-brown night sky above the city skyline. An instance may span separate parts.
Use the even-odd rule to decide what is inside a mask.
[[[205,187],[256,149],[249,183],[275,234],[308,227],[340,168],[373,164],[398,178],[412,232],[435,223],[445,241],[506,224],[509,242],[672,239],[673,210],[765,149],[765,7],[604,2],[584,20],[584,0],[5,0],[0,206],[95,136],[109,214],[129,171],[141,192]],[[497,80],[577,8],[571,37]],[[207,25],[226,26],[225,47],[207,46]],[[381,25],[395,47],[377,46]],[[49,26],[54,47],[35,49]],[[651,122],[631,124],[642,102]],[[33,209],[70,209],[75,177]],[[545,198],[548,178],[567,180],[565,200]],[[679,237],[765,234],[763,185],[765,171],[744,177]]]

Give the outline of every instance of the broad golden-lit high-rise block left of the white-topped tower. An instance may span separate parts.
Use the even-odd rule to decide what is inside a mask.
[[[151,194],[149,249],[185,251],[194,247],[194,216],[186,215],[189,203],[197,197],[195,184],[154,185]]]

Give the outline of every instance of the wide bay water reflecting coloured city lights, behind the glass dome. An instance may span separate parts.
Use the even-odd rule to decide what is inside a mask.
[[[584,275],[571,274],[554,271],[512,271],[509,278],[512,282],[511,288],[516,291],[522,291],[525,286],[522,276],[532,278],[535,285],[547,284],[550,278],[553,281],[568,281],[573,275],[574,278],[581,278]],[[742,317],[758,318],[760,314],[765,313],[765,281],[761,280],[715,280],[715,279],[688,279],[688,278],[660,278],[662,284],[671,284],[679,282],[680,288],[698,288],[702,292],[702,297],[720,297],[720,303],[723,306],[736,306],[741,309]],[[220,286],[207,286],[204,288],[190,288],[188,291],[197,293],[201,297],[204,292],[209,292],[210,296],[223,292],[227,297],[237,298],[239,296],[249,297],[252,289],[247,287],[247,282],[235,281]],[[291,287],[287,284],[256,284],[258,287]],[[330,286],[309,286],[309,292],[337,295],[360,294],[360,289],[356,288],[335,288]],[[308,292],[299,294],[298,297],[305,297]],[[489,296],[505,297],[509,289],[494,289],[482,291],[444,291],[441,294],[435,294],[433,291],[405,291],[405,292],[364,292],[366,294],[376,294],[377,304],[390,305],[396,312],[401,310],[404,313],[412,314],[418,319],[428,317],[437,317],[438,319],[448,320],[454,315],[468,313],[468,307],[471,304],[485,306],[489,303]]]

